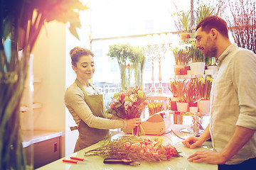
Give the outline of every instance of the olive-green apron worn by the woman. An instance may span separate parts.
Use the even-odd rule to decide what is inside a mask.
[[[85,103],[89,106],[92,114],[100,117],[107,118],[105,114],[105,106],[103,103],[102,94],[95,94],[92,96],[87,95],[85,89],[82,87],[78,79],[75,80],[75,84],[82,90],[85,94]],[[93,88],[93,87],[92,87]],[[80,121],[78,125],[79,136],[78,140],[75,144],[74,152],[78,152],[80,149],[84,149],[85,147],[89,147],[100,140],[104,140],[105,138],[110,136],[110,130],[102,130],[97,128],[90,128],[84,121]]]

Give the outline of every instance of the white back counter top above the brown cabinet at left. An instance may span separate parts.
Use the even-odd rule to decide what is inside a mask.
[[[23,147],[28,147],[29,145],[42,142],[45,140],[50,140],[55,137],[63,136],[64,132],[51,132],[51,131],[44,131],[44,130],[23,130]]]

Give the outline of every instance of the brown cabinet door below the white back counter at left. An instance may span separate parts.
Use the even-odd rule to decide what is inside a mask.
[[[60,137],[34,144],[34,169],[60,159]]]

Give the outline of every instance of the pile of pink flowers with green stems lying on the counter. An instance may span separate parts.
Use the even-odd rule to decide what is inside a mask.
[[[110,159],[131,159],[132,161],[159,162],[181,157],[175,147],[163,145],[163,139],[141,139],[137,136],[122,136],[108,140],[102,146],[85,152],[85,157],[100,156]]]

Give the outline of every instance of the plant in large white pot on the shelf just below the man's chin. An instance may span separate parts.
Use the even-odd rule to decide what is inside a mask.
[[[204,74],[206,67],[206,57],[203,56],[203,53],[196,48],[195,42],[191,42],[191,47],[189,47],[189,54],[191,57],[191,74]]]

